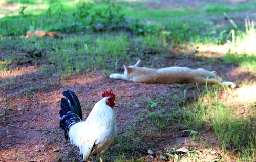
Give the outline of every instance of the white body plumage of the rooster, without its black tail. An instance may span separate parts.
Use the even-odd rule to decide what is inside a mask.
[[[94,105],[86,121],[80,120],[68,129],[68,138],[72,144],[79,147],[83,161],[86,161],[90,155],[95,153],[102,161],[102,154],[113,142],[117,133],[116,116],[107,103],[112,102],[112,100],[114,103],[114,99],[111,96],[104,97]],[[67,100],[69,103],[68,98]],[[70,119],[72,120],[72,118]]]

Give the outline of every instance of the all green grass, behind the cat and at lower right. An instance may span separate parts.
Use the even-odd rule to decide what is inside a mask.
[[[1,80],[1,89],[11,90],[24,86],[23,94],[56,86],[57,79],[46,79],[52,74],[66,77],[87,70],[109,73],[119,70],[122,64],[130,64],[140,58],[154,58],[155,54],[168,53],[170,48],[182,47],[184,44],[220,45],[229,39],[233,47],[239,47],[248,42],[252,33],[256,33],[252,21],[246,21],[245,30],[241,30],[231,24],[219,28],[218,22],[211,19],[211,16],[224,19],[223,12],[239,14],[246,10],[253,11],[255,2],[232,4],[232,6],[227,3],[221,6],[219,3],[207,3],[202,11],[189,8],[187,5],[182,6],[184,10],[157,10],[148,9],[137,2],[134,4],[120,2],[119,5],[122,7],[120,12],[118,12],[119,5],[111,6],[99,2],[76,4],[74,1],[46,1],[44,5],[28,0],[15,2],[28,7],[24,9],[23,14],[19,14],[21,10],[1,11],[5,14],[0,18],[1,73],[8,76],[8,70],[29,64],[40,68],[38,72],[28,75],[29,78],[38,75],[46,80],[44,83],[29,80],[25,80],[25,83],[15,82],[16,78]],[[32,8],[33,6],[37,8]],[[117,14],[117,17],[111,14],[102,16],[107,11],[110,13],[108,7]],[[86,12],[87,10],[89,13]],[[10,13],[7,14],[8,12]],[[125,16],[122,17],[122,14]],[[123,25],[125,21],[133,30],[133,37],[129,37],[125,32],[93,30],[98,23],[106,26],[110,25],[109,22]],[[42,29],[47,32],[54,30],[66,35],[63,39],[17,37],[32,29]],[[229,31],[231,31],[230,35]],[[41,51],[42,55],[40,57],[29,55],[29,52],[34,50]],[[145,62],[144,65],[155,67],[154,60],[152,62],[152,64]],[[225,55],[223,63],[243,66],[254,72],[255,52],[245,50],[241,54],[230,50]],[[193,92],[195,99],[192,101],[187,98],[188,90],[176,88],[175,94],[166,94],[164,97],[152,95],[150,103],[148,98],[139,98],[141,103],[148,106],[144,107],[133,124],[128,126],[129,130],[118,134],[113,143],[113,150],[119,151],[106,152],[106,159],[136,161],[133,160],[134,157],[144,156],[142,150],[154,146],[152,132],[161,135],[166,129],[174,129],[172,125],[175,123],[180,129],[195,128],[197,131],[202,131],[206,124],[208,126],[205,129],[216,134],[223,151],[228,152],[230,148],[238,149],[241,161],[253,161],[256,145],[255,129],[252,125],[256,122],[253,116],[256,111],[254,105],[245,104],[243,108],[247,113],[241,115],[240,107],[226,105],[224,99],[218,96],[220,89],[203,92],[195,90]],[[224,90],[224,92],[229,91]],[[203,98],[206,98],[207,102],[204,102]],[[188,109],[187,103],[193,105],[194,109]],[[146,145],[145,138],[149,142]],[[202,145],[207,146],[203,142]],[[194,158],[194,155],[191,156]]]

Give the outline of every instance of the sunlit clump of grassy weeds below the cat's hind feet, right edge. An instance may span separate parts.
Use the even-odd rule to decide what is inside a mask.
[[[208,90],[205,101],[209,103],[200,100],[195,104],[195,110],[183,109],[184,119],[187,118],[185,125],[201,129],[204,123],[211,123],[223,150],[236,148],[254,153],[255,150],[250,146],[255,145],[255,136],[252,135],[255,130],[251,125],[255,118],[236,118],[236,112],[230,111],[232,107],[222,104],[222,100],[225,99],[220,99],[217,93],[217,91]]]

